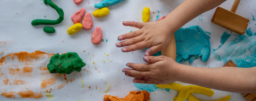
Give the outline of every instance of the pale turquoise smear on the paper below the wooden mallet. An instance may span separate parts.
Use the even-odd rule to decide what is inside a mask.
[[[226,31],[227,33],[227,31]],[[225,32],[223,34],[226,34]],[[226,41],[213,49],[213,56],[217,61],[227,63],[232,60],[237,67],[255,67],[256,66],[256,35],[252,34],[251,29],[247,31],[247,36],[239,34],[231,34]]]

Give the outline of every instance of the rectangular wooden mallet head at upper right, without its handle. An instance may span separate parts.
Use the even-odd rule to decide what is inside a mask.
[[[217,7],[211,21],[214,24],[242,35],[245,33],[250,20],[222,7]]]

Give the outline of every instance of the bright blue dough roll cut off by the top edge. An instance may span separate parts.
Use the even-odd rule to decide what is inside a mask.
[[[124,0],[103,0],[99,4],[95,4],[94,7],[95,8],[103,8],[103,7],[107,7],[107,6],[112,6],[112,5],[118,4],[121,1],[124,1]]]

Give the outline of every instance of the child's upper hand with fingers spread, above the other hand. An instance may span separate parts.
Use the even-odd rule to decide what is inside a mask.
[[[117,47],[128,46],[122,48],[122,52],[131,52],[151,47],[145,52],[145,56],[151,56],[163,50],[170,42],[172,35],[174,35],[174,31],[169,28],[169,25],[164,20],[147,23],[123,22],[123,25],[136,27],[140,30],[118,36],[120,41],[128,39],[116,43]]]

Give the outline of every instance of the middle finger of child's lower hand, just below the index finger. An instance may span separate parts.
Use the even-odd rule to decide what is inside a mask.
[[[135,69],[124,68],[122,72],[126,73],[126,76],[134,75],[134,76],[150,76],[147,71],[138,71]]]

